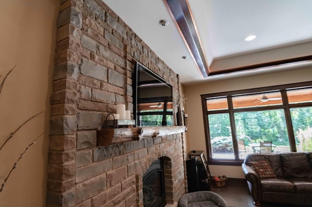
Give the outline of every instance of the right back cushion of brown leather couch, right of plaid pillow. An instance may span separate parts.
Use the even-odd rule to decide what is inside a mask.
[[[285,153],[280,156],[283,177],[312,178],[312,169],[307,153]]]

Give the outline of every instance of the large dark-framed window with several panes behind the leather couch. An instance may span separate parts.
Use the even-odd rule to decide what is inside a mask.
[[[240,165],[261,141],[273,153],[312,152],[312,82],[201,98],[210,164]]]

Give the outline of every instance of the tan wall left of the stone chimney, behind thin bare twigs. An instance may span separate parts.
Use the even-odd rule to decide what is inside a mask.
[[[45,206],[50,95],[59,0],[0,1],[0,145],[33,115],[0,151],[0,184],[26,147],[41,133],[0,192],[0,207]]]

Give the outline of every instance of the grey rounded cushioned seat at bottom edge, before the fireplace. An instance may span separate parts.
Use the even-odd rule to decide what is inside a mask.
[[[190,192],[181,196],[179,207],[227,207],[223,198],[212,191]]]

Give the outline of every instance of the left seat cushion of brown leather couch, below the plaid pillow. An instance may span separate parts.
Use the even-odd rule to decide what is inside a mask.
[[[295,192],[292,182],[284,178],[264,178],[260,183],[262,192]]]

